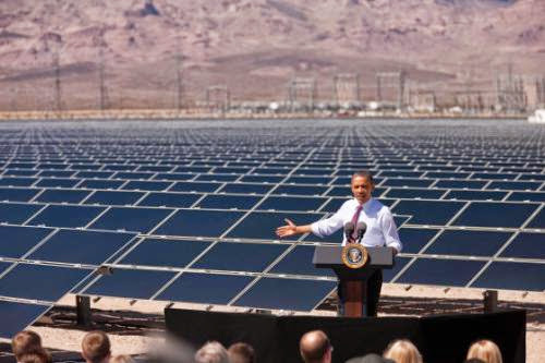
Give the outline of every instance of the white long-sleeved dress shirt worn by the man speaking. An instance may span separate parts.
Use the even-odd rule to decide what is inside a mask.
[[[319,238],[335,233],[343,228],[347,222],[352,221],[359,205],[360,203],[356,198],[344,202],[335,215],[312,223],[312,232]],[[359,221],[363,221],[367,225],[361,244],[367,247],[387,245],[401,252],[403,245],[399,240],[398,229],[391,216],[390,208],[377,199],[371,198],[363,205],[360,217],[355,223]],[[346,244],[347,237],[343,233],[342,245]]]

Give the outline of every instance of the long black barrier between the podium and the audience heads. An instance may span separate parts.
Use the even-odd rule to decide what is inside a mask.
[[[252,344],[261,363],[301,362],[299,339],[313,329],[324,330],[334,346],[334,362],[367,353],[382,353],[393,339],[411,340],[426,363],[461,363],[470,344],[491,339],[504,363],[525,361],[525,311],[456,314],[427,317],[349,318],[274,316],[166,308],[167,329],[195,347],[208,340],[225,346]]]

